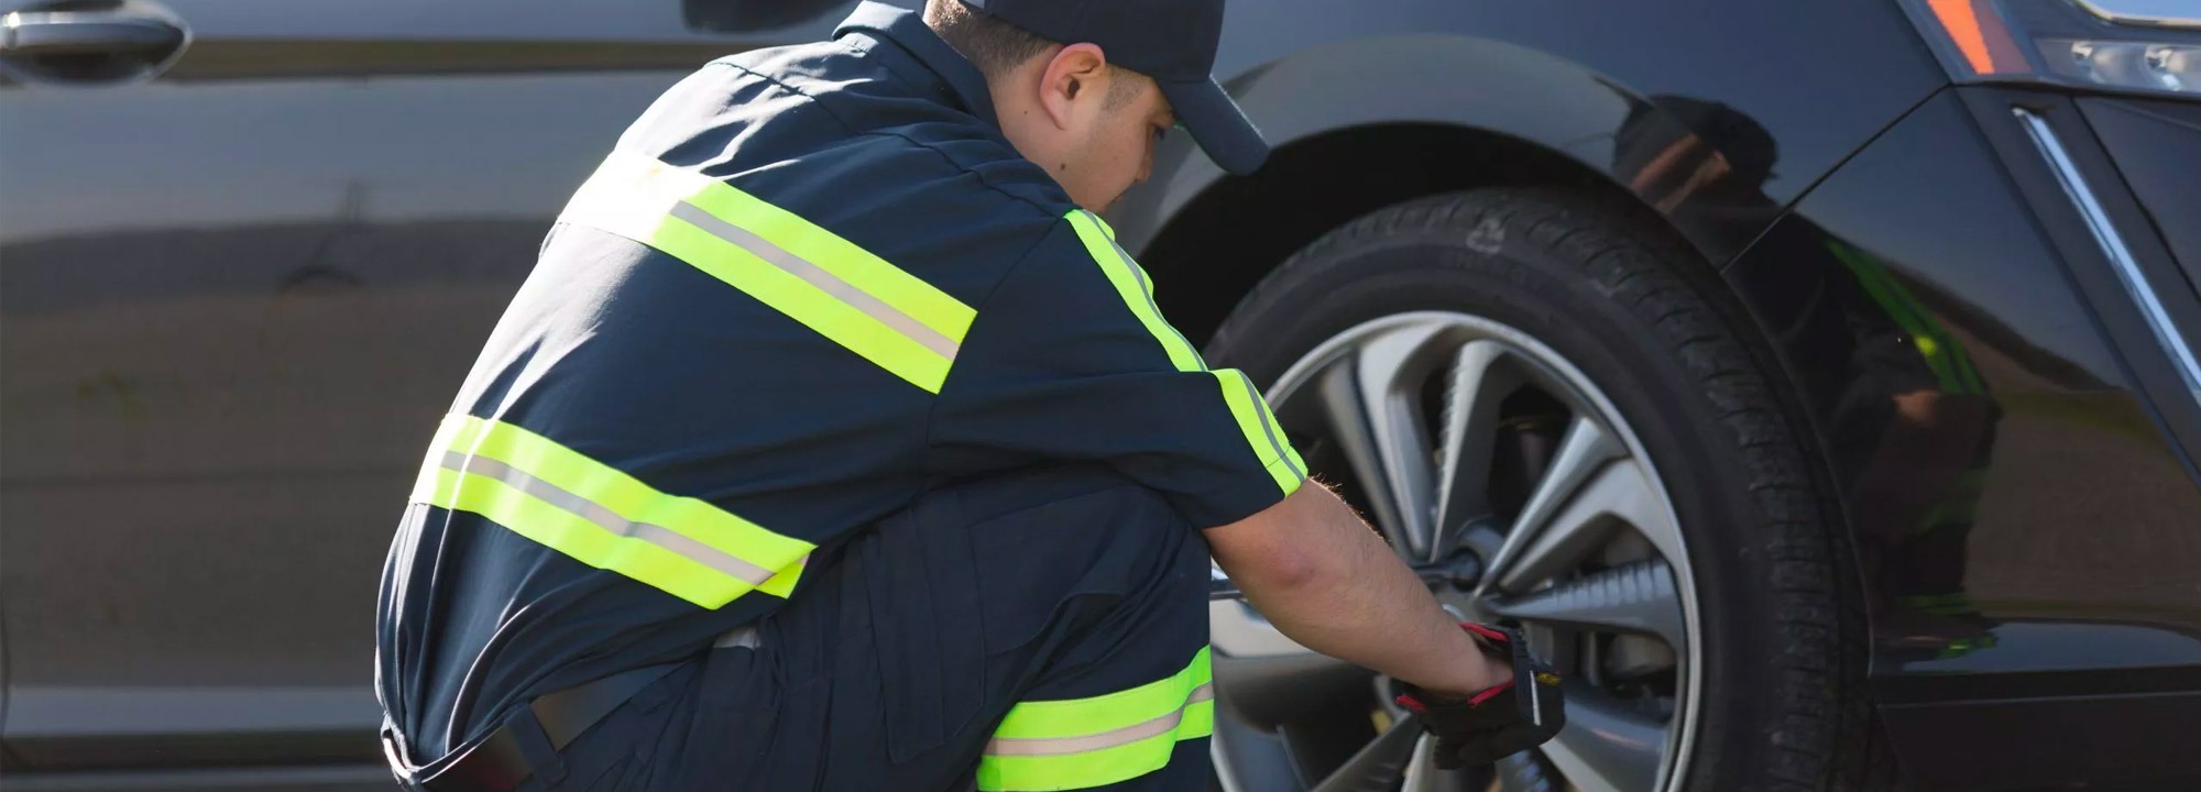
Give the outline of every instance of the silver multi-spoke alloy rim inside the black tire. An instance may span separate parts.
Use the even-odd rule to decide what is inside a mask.
[[[1499,497],[1499,436],[1514,431],[1501,420],[1516,418],[1523,398],[1565,429],[1547,433],[1541,473]],[[1362,493],[1409,563],[1481,561],[1472,585],[1439,587],[1446,605],[1519,620],[1567,678],[1567,728],[1490,768],[1494,779],[1477,788],[1651,792],[1686,779],[1704,689],[1688,552],[1649,453],[1580,370],[1483,317],[1406,312],[1321,343],[1268,400],[1316,473]],[[1230,792],[1292,777],[1318,792],[1466,783],[1433,768],[1428,739],[1413,737],[1420,726],[1382,695],[1389,680],[1299,647],[1244,601],[1211,603],[1211,625],[1222,704],[1213,752]],[[1314,759],[1316,741],[1296,739],[1292,717],[1336,706],[1325,691],[1340,686],[1345,706],[1367,691],[1365,715],[1380,733],[1349,759]],[[1270,768],[1252,768],[1261,761]],[[1292,768],[1279,774],[1277,763]]]

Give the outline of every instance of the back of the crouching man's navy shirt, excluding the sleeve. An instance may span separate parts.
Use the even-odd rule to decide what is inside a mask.
[[[405,590],[385,592],[403,616],[385,642],[383,693],[414,719],[405,726],[420,735],[416,750],[447,750],[528,695],[693,651],[779,601],[751,592],[709,609],[651,585],[691,585],[707,601],[744,587],[740,572],[729,581],[709,570],[740,568],[724,554],[687,552],[707,557],[704,570],[682,557],[698,543],[682,532],[707,526],[612,539],[621,524],[649,521],[579,506],[568,513],[603,519],[572,532],[603,535],[570,537],[561,552],[480,513],[429,508],[436,477],[456,473],[440,464],[464,440],[456,431],[517,429],[539,440],[513,442],[517,455],[570,451],[656,493],[559,486],[572,499],[691,497],[825,548],[931,477],[973,473],[924,453],[927,414],[975,317],[968,306],[1070,202],[982,121],[924,95],[949,88],[922,81],[905,53],[867,48],[839,40],[704,66],[634,123],[544,242],[451,407],[473,420],[447,420],[458,427],[431,449],[401,530],[401,541],[436,548],[412,557]],[[698,178],[636,189],[636,174],[665,165]],[[645,194],[707,178],[722,187],[680,211],[700,222],[665,231],[669,222],[636,216]],[[995,189],[971,189],[977,183]],[[781,209],[777,222],[740,213],[762,200]],[[634,240],[658,231],[711,251],[715,271]],[[478,464],[460,482],[524,502],[511,510],[561,502],[528,497],[548,493],[555,473],[517,469],[482,475]],[[656,565],[691,570],[663,581],[596,570],[636,552],[682,557]],[[458,565],[467,574],[431,572]],[[420,675],[396,680],[394,653],[409,653],[401,667]]]

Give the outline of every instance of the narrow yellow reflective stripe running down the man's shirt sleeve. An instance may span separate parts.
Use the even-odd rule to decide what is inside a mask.
[[[1208,370],[1200,352],[1193,350],[1193,343],[1184,341],[1184,334],[1162,319],[1162,308],[1153,304],[1153,284],[1147,279],[1147,271],[1131,260],[1131,253],[1125,253],[1116,244],[1116,231],[1107,222],[1083,209],[1072,211],[1067,220],[1078,231],[1078,240],[1085,242],[1085,253],[1092,253],[1094,264],[1100,264],[1100,273],[1116,286],[1123,304],[1131,308],[1131,315],[1147,326],[1153,341],[1169,354],[1169,363],[1178,372],[1215,374],[1224,403],[1230,405],[1230,416],[1237,418],[1239,431],[1246,433],[1246,444],[1255,458],[1261,460],[1261,466],[1268,469],[1268,475],[1277,480],[1277,486],[1285,495],[1299,491],[1299,484],[1307,480],[1307,462],[1299,458],[1292,442],[1277,429],[1277,416],[1270,414],[1268,400],[1252,387],[1252,381],[1237,370]]]

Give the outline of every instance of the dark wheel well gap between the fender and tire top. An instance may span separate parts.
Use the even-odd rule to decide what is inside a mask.
[[[1197,345],[1263,275],[1329,229],[1400,200],[1523,185],[1600,194],[1660,242],[1682,244],[1627,189],[1543,145],[1470,128],[1393,123],[1279,147],[1255,176],[1222,180],[1193,198],[1138,257],[1160,282],[1162,315]]]

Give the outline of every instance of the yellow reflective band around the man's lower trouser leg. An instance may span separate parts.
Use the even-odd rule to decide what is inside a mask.
[[[1169,766],[1178,741],[1215,730],[1208,649],[1164,680],[1085,700],[1021,702],[977,763],[979,790],[1085,790]]]

